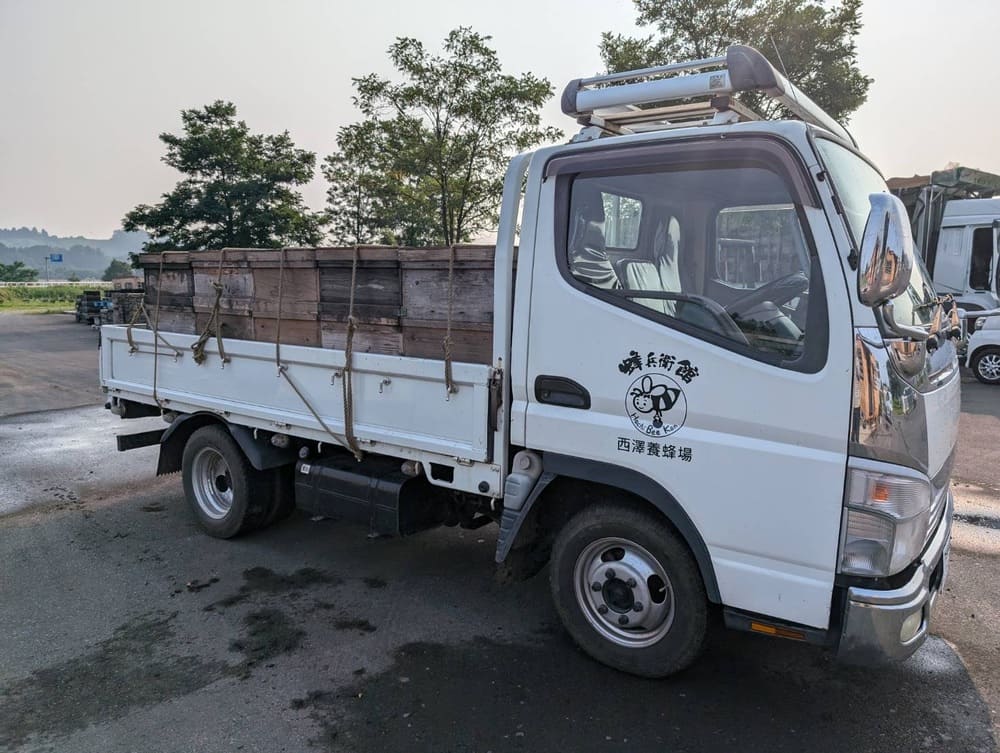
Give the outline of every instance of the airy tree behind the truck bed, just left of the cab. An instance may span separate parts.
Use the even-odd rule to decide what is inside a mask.
[[[324,164],[335,242],[447,245],[496,227],[510,157],[561,132],[540,125],[551,84],[503,73],[490,39],[460,27],[431,55],[399,37],[401,82],[354,79],[364,120],[340,130]]]

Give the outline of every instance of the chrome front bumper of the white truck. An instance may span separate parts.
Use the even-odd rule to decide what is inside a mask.
[[[952,508],[949,490],[938,530],[906,585],[889,591],[848,588],[837,658],[863,664],[902,661],[927,639],[931,611],[948,571]],[[903,623],[915,613],[920,614],[920,627],[903,640]]]

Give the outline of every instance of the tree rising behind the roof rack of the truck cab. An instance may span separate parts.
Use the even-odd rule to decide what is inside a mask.
[[[846,121],[868,97],[872,79],[858,68],[854,39],[861,0],[633,0],[638,23],[655,34],[605,32],[609,72],[722,55],[731,44],[756,47],[834,118]],[[829,6],[829,7],[827,7]],[[777,53],[776,54],[776,48]],[[765,117],[782,108],[759,95],[741,99]]]

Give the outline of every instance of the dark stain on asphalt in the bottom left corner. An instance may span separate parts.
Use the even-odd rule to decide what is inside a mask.
[[[221,677],[225,664],[165,649],[174,616],[127,622],[90,651],[0,689],[0,749],[62,737]]]

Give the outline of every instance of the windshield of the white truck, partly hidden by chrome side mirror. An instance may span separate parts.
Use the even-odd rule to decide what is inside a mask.
[[[833,180],[834,190],[844,207],[844,215],[855,248],[860,248],[865,222],[871,204],[868,195],[888,193],[889,188],[878,171],[854,154],[829,139],[816,139],[816,147]],[[913,271],[906,292],[894,298],[893,315],[899,324],[923,327],[934,318],[937,295],[923,259],[914,253]]]

